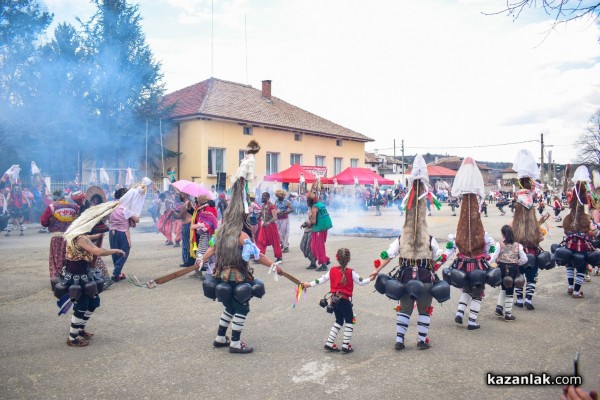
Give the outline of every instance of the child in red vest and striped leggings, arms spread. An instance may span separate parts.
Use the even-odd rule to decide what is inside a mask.
[[[315,279],[310,283],[303,282],[302,287],[306,289],[330,281],[332,301],[329,307],[334,307],[335,323],[331,327],[329,338],[327,338],[327,343],[325,343],[324,347],[328,351],[340,351],[335,344],[335,338],[340,329],[342,329],[342,325],[345,324],[342,352],[352,353],[353,350],[350,345],[350,339],[354,332],[354,327],[352,326],[352,320],[354,319],[354,312],[352,311],[352,292],[354,290],[354,283],[359,286],[364,286],[371,280],[369,278],[361,278],[352,270],[352,268],[348,268],[348,263],[350,262],[350,250],[345,248],[339,249],[336,258],[340,265],[331,268],[319,279]],[[334,298],[337,298],[339,301],[334,300]]]

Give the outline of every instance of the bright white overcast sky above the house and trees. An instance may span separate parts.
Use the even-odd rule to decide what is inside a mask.
[[[539,157],[540,143],[499,144],[544,133],[553,158],[571,162],[600,109],[598,24],[547,36],[541,9],[483,14],[504,0],[138,3],[168,92],[211,76],[257,89],[270,79],[273,96],[375,139],[369,151],[393,154],[396,139],[400,154],[404,139],[405,154],[512,162],[523,147]],[[47,5],[55,23],[94,12],[85,0]]]

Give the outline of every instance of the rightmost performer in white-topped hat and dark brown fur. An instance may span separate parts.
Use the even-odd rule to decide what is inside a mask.
[[[573,253],[587,256],[589,252],[594,250],[591,241],[595,236],[590,216],[585,211],[585,206],[589,201],[587,186],[590,182],[587,168],[583,165],[577,168],[571,180],[575,185],[569,194],[569,214],[563,219],[564,243],[565,247]],[[584,262],[583,265],[574,265],[572,261],[571,258],[566,268],[567,292],[572,294],[574,298],[582,298],[581,286],[584,282],[587,262]]]

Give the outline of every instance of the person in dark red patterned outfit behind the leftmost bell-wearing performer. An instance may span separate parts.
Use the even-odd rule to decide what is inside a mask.
[[[79,206],[65,200],[65,193],[57,190],[52,202],[40,217],[40,223],[52,234],[50,238],[50,279],[60,275],[65,263],[65,239],[63,233],[79,215]]]

